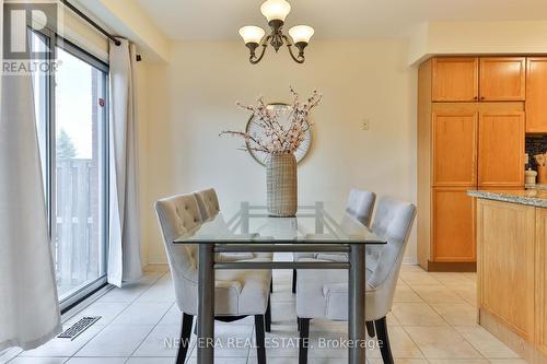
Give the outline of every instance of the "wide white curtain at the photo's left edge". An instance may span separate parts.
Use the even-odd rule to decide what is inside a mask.
[[[61,330],[42,178],[31,77],[0,75],[0,351]]]

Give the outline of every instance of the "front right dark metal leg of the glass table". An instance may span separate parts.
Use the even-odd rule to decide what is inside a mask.
[[[365,266],[364,244],[351,244],[349,268],[349,364],[364,364],[365,324],[364,324]]]

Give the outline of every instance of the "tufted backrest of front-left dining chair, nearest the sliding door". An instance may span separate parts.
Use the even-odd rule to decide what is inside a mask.
[[[196,305],[196,302],[194,302],[196,292],[189,292],[189,290],[196,290],[198,282],[197,246],[173,244],[173,240],[184,234],[191,233],[201,224],[198,202],[194,195],[178,195],[159,200],[154,207],[162,231],[178,307],[183,312],[193,310]]]

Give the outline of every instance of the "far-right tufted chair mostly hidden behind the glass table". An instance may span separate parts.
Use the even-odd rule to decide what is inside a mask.
[[[346,212],[348,215],[358,220],[361,224],[369,227],[374,210],[376,193],[366,190],[353,188],[349,191]],[[328,261],[347,261],[348,256],[344,253],[314,254],[314,253],[294,253],[294,261],[300,261],[305,258],[322,259]],[[296,293],[296,270],[292,270],[292,293]]]

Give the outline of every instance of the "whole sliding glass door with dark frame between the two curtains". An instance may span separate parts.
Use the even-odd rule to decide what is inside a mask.
[[[66,307],[106,282],[108,68],[54,34],[54,74],[35,74],[36,117],[57,286]]]

